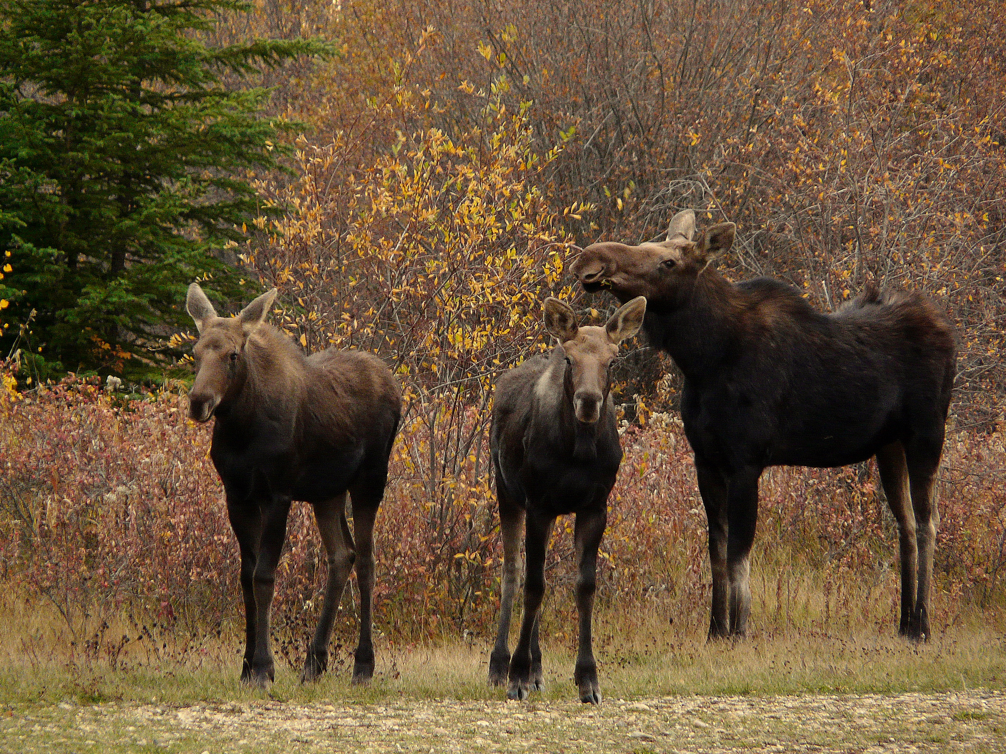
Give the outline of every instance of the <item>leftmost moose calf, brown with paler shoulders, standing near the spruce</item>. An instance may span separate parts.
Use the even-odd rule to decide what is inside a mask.
[[[362,351],[306,357],[266,324],[276,289],[237,317],[216,316],[198,285],[186,308],[199,330],[189,415],[216,418],[210,457],[223,483],[241,555],[245,647],[241,680],[275,679],[269,613],[292,501],[314,508],[328,558],[325,604],[301,681],[328,665],[328,641],[346,580],[356,565],[360,638],[353,682],[373,676],[373,526],[384,496],[401,392],[384,363]],[[351,496],[356,543],[346,520]]]

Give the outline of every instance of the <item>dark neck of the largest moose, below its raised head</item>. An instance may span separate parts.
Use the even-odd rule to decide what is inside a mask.
[[[742,310],[739,293],[710,266],[699,272],[690,295],[661,304],[659,298],[650,300],[643,329],[687,379],[700,382],[734,340]]]

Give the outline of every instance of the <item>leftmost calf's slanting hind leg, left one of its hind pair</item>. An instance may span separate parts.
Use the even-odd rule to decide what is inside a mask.
[[[317,680],[328,668],[328,639],[332,635],[335,613],[355,559],[353,540],[347,536],[349,527],[346,523],[346,495],[319,503],[314,507],[314,512],[328,560],[328,580],[325,582],[325,604],[318,619],[318,629],[304,661],[301,683]]]

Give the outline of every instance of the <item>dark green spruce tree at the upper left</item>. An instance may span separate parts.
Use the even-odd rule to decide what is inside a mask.
[[[34,311],[31,344],[50,364],[149,375],[150,345],[187,325],[189,281],[208,273],[233,293],[218,250],[241,237],[248,171],[279,166],[290,124],[259,116],[267,89],[221,76],[332,49],[199,41],[213,14],[248,8],[0,0],[0,358]]]

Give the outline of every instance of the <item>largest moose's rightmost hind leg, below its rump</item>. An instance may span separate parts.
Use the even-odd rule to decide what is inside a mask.
[[[908,636],[925,641],[931,635],[930,593],[933,583],[933,554],[940,526],[936,500],[936,475],[943,452],[943,424],[939,432],[915,436],[904,448],[911,486],[911,508],[915,513],[915,542],[918,547],[918,592],[915,609],[908,624]]]

